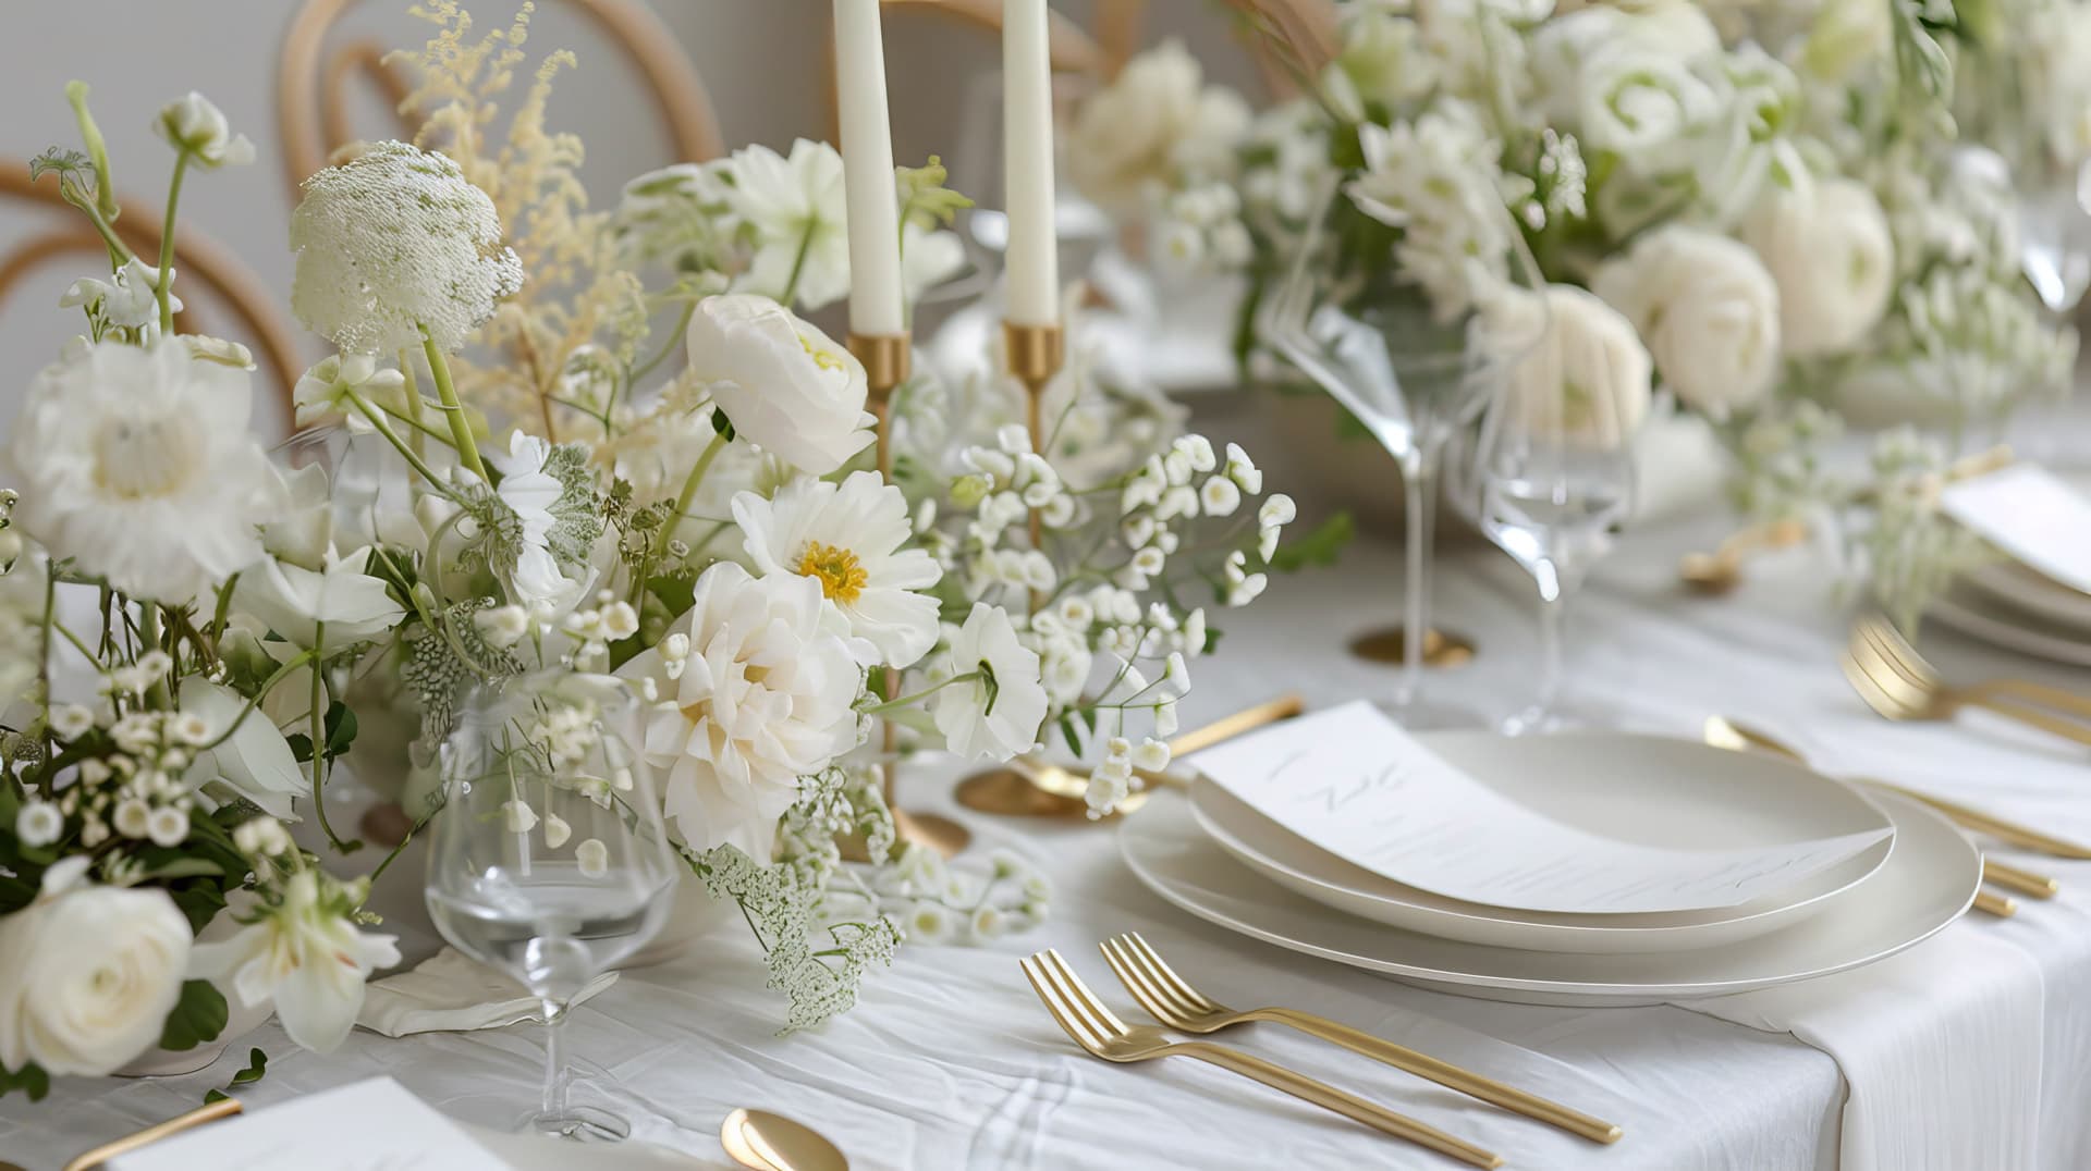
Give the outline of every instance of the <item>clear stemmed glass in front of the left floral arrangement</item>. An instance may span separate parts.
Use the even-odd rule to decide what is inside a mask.
[[[673,901],[675,859],[636,730],[638,707],[615,680],[546,671],[470,688],[443,740],[429,914],[443,939],[544,1004],[544,1102],[519,1129],[631,1133],[613,1110],[569,1104],[560,1025]]]

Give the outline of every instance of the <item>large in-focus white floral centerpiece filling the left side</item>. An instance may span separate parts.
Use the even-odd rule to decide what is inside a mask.
[[[496,140],[529,8],[481,38],[456,4],[424,17],[399,54],[416,140],[345,148],[293,215],[291,305],[337,347],[295,412],[347,435],[332,460],[272,460],[247,349],[176,335],[169,253],[111,230],[86,88],[86,148],[36,161],[109,268],[61,299],[84,330],[4,447],[0,1089],[194,1048],[230,1006],[337,1046],[399,960],[368,893],[406,841],[337,826],[328,780],[355,761],[420,828],[468,692],[544,671],[638,696],[631,757],[692,880],[746,914],[788,1027],[815,1025],[903,939],[993,937],[1050,899],[1020,859],[947,870],[895,843],[874,728],[993,761],[1062,738],[1108,811],[1167,763],[1217,638],[1190,590],[1246,604],[1280,558],[1290,502],[1175,429],[1066,468],[1052,437],[920,429],[889,483],[864,368],[795,312],[849,289],[834,151],[669,167],[594,211],[581,142],[546,128],[571,54]],[[157,128],[171,240],[184,176],[253,146],[197,94]],[[895,182],[920,291],[956,266],[964,201],[935,163]],[[529,736],[558,761],[585,724]],[[874,862],[843,864],[838,834]]]

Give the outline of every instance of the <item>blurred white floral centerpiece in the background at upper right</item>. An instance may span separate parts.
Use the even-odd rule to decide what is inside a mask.
[[[1972,554],[1926,485],[2076,351],[2026,282],[2009,188],[1961,153],[2003,123],[2030,140],[2014,157],[2091,155],[2091,94],[2053,65],[2081,8],[2028,8],[1355,0],[1332,61],[1271,31],[1305,96],[1255,117],[1181,46],[1135,59],[1081,113],[1071,171],[1161,263],[1246,276],[1244,360],[1328,192],[1328,286],[1439,314],[1508,207],[1552,282],[1558,376],[1625,418],[1652,389],[1708,418],[1750,514],[1844,533],[1907,611]],[[1832,475],[1846,418],[1945,435]]]

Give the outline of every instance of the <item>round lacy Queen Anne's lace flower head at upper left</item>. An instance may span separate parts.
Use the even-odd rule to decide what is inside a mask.
[[[493,201],[443,155],[378,142],[303,190],[291,307],[341,349],[418,347],[422,330],[458,349],[523,286]]]

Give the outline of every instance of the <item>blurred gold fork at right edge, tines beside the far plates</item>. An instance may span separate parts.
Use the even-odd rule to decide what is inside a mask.
[[[1842,655],[1844,678],[1876,713],[1888,719],[1949,719],[1963,707],[2091,744],[2091,698],[2030,680],[1984,680],[1951,686],[1882,617],[1861,617]]]

